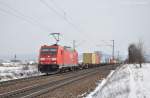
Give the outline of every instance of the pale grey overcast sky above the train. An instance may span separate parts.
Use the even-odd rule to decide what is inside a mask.
[[[139,39],[150,48],[149,17],[150,0],[0,0],[0,55],[38,54],[54,43],[51,32],[62,34],[62,45],[76,40],[79,52],[110,53],[102,40],[114,39],[127,54]]]

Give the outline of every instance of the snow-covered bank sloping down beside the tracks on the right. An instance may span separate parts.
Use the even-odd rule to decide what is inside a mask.
[[[123,65],[86,98],[150,98],[150,64]]]

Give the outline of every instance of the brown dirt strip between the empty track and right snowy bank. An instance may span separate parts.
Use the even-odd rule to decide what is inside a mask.
[[[111,67],[107,67],[105,70],[101,70],[96,74],[81,79],[79,81],[72,82],[54,91],[51,91],[45,95],[41,95],[38,98],[82,98],[89,92],[93,91],[103,78],[110,73]]]

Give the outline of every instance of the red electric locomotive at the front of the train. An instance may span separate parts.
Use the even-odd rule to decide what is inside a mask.
[[[50,73],[69,69],[78,65],[78,53],[66,46],[44,45],[40,49],[38,69],[42,73]]]

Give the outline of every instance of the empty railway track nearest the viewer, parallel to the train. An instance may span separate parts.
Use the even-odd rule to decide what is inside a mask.
[[[115,67],[114,67],[115,68]],[[57,89],[61,86],[67,85],[74,81],[86,78],[88,76],[94,75],[100,70],[111,70],[114,69],[113,66],[110,67],[97,67],[88,70],[82,70],[75,72],[75,74],[67,75],[65,78],[60,80],[52,80],[43,84],[34,84],[21,89],[13,90],[10,92],[5,92],[0,94],[0,98],[32,98],[39,95],[45,94],[51,90]]]

